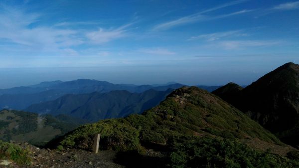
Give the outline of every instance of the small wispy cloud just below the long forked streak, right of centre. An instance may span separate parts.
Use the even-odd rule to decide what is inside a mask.
[[[205,39],[207,41],[215,41],[215,40],[219,40],[224,37],[247,36],[247,35],[248,34],[244,33],[243,30],[234,30],[234,31],[225,31],[225,32],[217,32],[217,33],[192,36],[188,40]]]

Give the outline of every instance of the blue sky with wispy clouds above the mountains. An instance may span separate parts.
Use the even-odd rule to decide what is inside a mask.
[[[0,0],[0,88],[247,85],[299,63],[296,0]]]

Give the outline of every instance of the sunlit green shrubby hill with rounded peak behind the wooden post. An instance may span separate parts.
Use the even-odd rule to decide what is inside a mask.
[[[174,137],[204,135],[280,143],[245,114],[196,87],[175,90],[143,115],[102,120],[79,127],[66,136],[62,144],[84,148],[80,143],[95,133],[101,133],[102,143],[112,149],[138,148],[140,141],[165,144]]]

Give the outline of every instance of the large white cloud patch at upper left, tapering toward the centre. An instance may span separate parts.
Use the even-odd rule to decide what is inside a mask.
[[[0,4],[0,42],[10,47],[1,47],[8,53],[25,52],[34,54],[78,55],[77,46],[81,44],[103,44],[128,35],[126,24],[114,29],[98,30],[74,28],[72,25],[96,22],[60,22],[52,25],[40,25],[42,14],[28,13],[21,8]],[[8,51],[12,48],[13,51]],[[2,51],[3,51],[2,50]],[[97,55],[97,53],[94,53]],[[107,53],[101,53],[107,55]]]

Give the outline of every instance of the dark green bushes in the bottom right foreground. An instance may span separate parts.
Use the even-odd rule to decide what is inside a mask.
[[[238,141],[194,138],[173,144],[171,168],[299,168],[299,160],[259,152]]]

